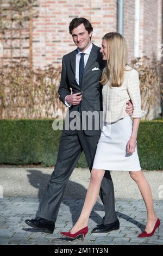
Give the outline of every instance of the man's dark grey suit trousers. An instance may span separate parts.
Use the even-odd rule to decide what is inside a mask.
[[[57,163],[36,216],[54,222],[57,220],[61,199],[68,179],[82,151],[85,153],[89,169],[92,169],[99,136],[100,133],[98,136],[87,136],[82,130],[73,131],[70,135],[67,135],[65,131],[62,132]],[[105,208],[103,224],[116,221],[114,186],[109,170],[105,172],[99,196]]]

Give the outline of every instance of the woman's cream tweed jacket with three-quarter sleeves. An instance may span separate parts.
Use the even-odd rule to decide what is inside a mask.
[[[133,102],[132,118],[141,118],[146,114],[141,110],[139,74],[135,69],[126,66],[124,71],[124,82],[121,87],[110,87],[110,80],[103,86],[103,121],[114,123],[127,117],[126,102]]]

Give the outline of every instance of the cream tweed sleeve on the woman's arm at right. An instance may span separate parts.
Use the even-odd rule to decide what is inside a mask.
[[[140,94],[140,82],[139,82],[139,74],[133,69],[131,71],[127,71],[127,91],[131,101],[133,102],[133,114],[131,117],[133,118],[141,118],[146,114],[145,111],[141,110],[141,94]]]

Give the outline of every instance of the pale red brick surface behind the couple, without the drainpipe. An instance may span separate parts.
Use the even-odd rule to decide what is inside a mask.
[[[23,41],[22,36],[23,46],[19,47],[15,41],[14,49],[14,54],[18,56],[22,48],[21,56],[33,60],[35,67],[43,68],[48,64],[60,66],[62,56],[76,48],[68,33],[68,25],[74,17],[83,16],[90,20],[93,26],[92,42],[98,46],[101,46],[105,33],[116,31],[117,28],[117,0],[37,0],[37,4],[39,16],[33,19],[32,26],[23,35],[30,38],[31,47],[29,42],[27,45],[27,39]],[[150,58],[160,59],[161,19],[162,0],[140,0],[140,56],[146,54]],[[124,0],[124,36],[128,44],[129,62],[134,58],[134,22],[135,0]],[[28,36],[30,31],[32,36]],[[3,43],[1,36],[0,42]],[[11,52],[9,39],[5,39],[4,44],[6,57]],[[13,42],[13,46],[15,44]],[[7,61],[5,58],[3,60],[3,63]]]

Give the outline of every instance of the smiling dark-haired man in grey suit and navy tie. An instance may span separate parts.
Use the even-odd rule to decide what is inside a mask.
[[[102,111],[102,86],[99,81],[105,63],[99,52],[100,48],[91,43],[93,28],[88,20],[73,19],[69,31],[78,48],[62,58],[61,82],[58,92],[60,100],[69,107],[68,117],[73,111],[77,111],[82,123],[83,111],[97,111],[98,113]],[[131,114],[132,111],[133,106],[127,102],[127,112]],[[95,119],[93,120],[96,121]],[[82,125],[79,128],[82,128]],[[96,130],[95,126],[91,130],[88,127],[76,130],[69,127],[62,131],[54,172],[48,182],[36,218],[26,220],[28,225],[47,233],[53,233],[68,179],[82,151],[85,153],[89,169],[92,169],[100,134],[101,130]],[[105,216],[103,223],[97,225],[92,231],[103,233],[119,229],[120,223],[115,212],[114,186],[109,171],[105,172],[99,196],[104,204]]]

